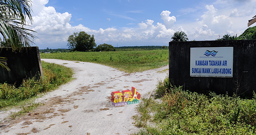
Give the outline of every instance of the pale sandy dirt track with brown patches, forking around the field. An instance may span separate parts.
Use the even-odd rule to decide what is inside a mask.
[[[114,107],[111,92],[135,87],[142,97],[152,92],[157,79],[164,79],[168,66],[140,73],[125,73],[114,68],[75,61],[42,59],[73,68],[76,78],[37,102],[45,105],[10,122],[0,122],[3,135],[128,135],[138,129],[131,118],[137,104]],[[8,113],[0,111],[0,121]],[[2,123],[2,124],[1,124]],[[2,127],[1,127],[2,126]]]

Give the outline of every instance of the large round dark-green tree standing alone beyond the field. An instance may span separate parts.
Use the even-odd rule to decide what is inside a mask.
[[[67,46],[73,51],[90,51],[96,46],[94,35],[89,35],[84,31],[74,32],[67,39]]]

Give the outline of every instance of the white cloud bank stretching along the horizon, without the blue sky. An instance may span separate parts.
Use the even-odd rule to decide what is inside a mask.
[[[33,0],[33,2],[33,11],[35,14],[33,14],[34,23],[32,29],[38,32],[40,39],[36,39],[36,44],[39,45],[40,48],[46,48],[49,44],[62,44],[64,45],[63,47],[67,48],[67,38],[73,34],[73,32],[79,31],[85,31],[90,35],[93,34],[97,44],[116,44],[116,42],[118,42],[118,44],[128,44],[130,42],[138,42],[144,43],[142,45],[152,45],[153,43],[156,43],[154,45],[164,45],[168,44],[175,31],[184,31],[188,35],[189,40],[215,40],[218,38],[218,35],[236,34],[237,30],[244,28],[244,26],[241,26],[241,23],[237,22],[243,20],[245,24],[247,24],[247,19],[243,16],[247,14],[251,15],[255,11],[254,6],[250,6],[250,8],[246,9],[246,4],[232,8],[225,13],[221,8],[221,10],[218,11],[213,5],[207,5],[205,6],[205,12],[201,13],[199,18],[189,23],[177,24],[176,17],[170,16],[170,11],[162,11],[159,14],[159,18],[161,17],[163,23],[155,22],[148,18],[148,20],[141,21],[141,23],[137,23],[137,25],[133,23],[136,20],[132,18],[108,12],[107,14],[109,15],[133,21],[132,23],[124,24],[125,27],[122,28],[90,29],[83,24],[71,25],[70,20],[72,15],[68,12],[58,13],[55,11],[55,8],[51,6],[46,7],[45,5],[48,3],[48,0]],[[227,0],[218,0],[217,2],[226,3]],[[248,4],[249,3],[247,3],[247,5]],[[247,10],[247,12],[243,10]],[[194,11],[195,9],[191,8],[189,12]],[[250,14],[249,11],[251,11]],[[139,13],[139,11],[129,12]],[[184,14],[186,13],[184,12]],[[227,16],[229,14],[230,16]],[[111,19],[107,18],[107,20],[110,21]],[[234,25],[236,28],[233,28]]]

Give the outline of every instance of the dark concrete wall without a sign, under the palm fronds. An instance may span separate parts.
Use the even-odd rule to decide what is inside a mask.
[[[38,47],[30,49],[23,48],[21,52],[12,52],[11,48],[2,48],[0,57],[6,57],[8,67],[11,71],[7,71],[0,67],[0,83],[7,82],[19,86],[23,79],[36,77],[37,79],[43,75],[41,58]]]

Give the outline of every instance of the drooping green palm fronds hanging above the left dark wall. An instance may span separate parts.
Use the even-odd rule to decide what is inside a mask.
[[[25,27],[29,26],[28,17],[32,24],[32,5],[30,0],[0,0],[0,45],[1,48],[9,47],[12,51],[21,51],[22,47],[31,47],[36,38],[30,32],[35,32]],[[0,57],[0,66],[8,69],[6,58]]]

